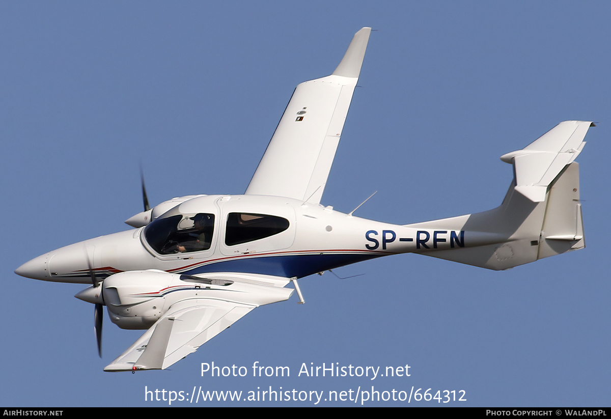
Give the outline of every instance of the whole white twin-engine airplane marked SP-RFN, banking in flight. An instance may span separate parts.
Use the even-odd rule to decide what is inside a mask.
[[[508,269],[585,247],[579,166],[591,122],[565,121],[501,157],[514,178],[494,210],[386,224],[320,205],[371,29],[330,76],[297,86],[244,195],[188,195],[148,208],[135,230],[89,239],[24,263],[16,274],[91,283],[76,297],[122,329],[148,329],[104,371],[163,370],[297,280],[371,258],[420,253]],[[293,288],[284,288],[293,282]]]

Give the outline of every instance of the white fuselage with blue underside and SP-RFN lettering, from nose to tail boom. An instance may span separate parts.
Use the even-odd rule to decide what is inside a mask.
[[[189,234],[196,236],[189,233],[193,227],[189,220],[197,214],[206,214],[210,223],[206,248],[177,250],[180,237],[189,241]],[[153,228],[154,223],[172,219],[179,220],[177,231],[167,232],[163,225]],[[90,283],[89,259],[100,279],[142,269],[301,278],[396,253],[464,247],[466,240],[464,231],[387,224],[283,197],[204,195],[180,203],[146,227],[45,253],[18,268],[18,274],[53,282]]]

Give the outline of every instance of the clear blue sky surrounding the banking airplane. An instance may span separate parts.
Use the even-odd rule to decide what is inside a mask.
[[[372,385],[465,390],[458,406],[609,406],[609,21],[603,1],[0,2],[0,406]],[[296,84],[331,73],[363,26],[378,32],[323,204],[349,212],[378,191],[356,214],[401,224],[487,210],[511,181],[499,156],[594,120],[577,159],[587,248],[505,272],[417,255],[348,266],[364,275],[303,279],[305,305],[259,308],[171,371],[104,373],[141,332],[105,316],[100,360],[83,286],[13,270],[128,229],[141,161],[152,204],[242,193]],[[202,362],[291,376],[202,377]],[[311,362],[411,376],[298,377]]]

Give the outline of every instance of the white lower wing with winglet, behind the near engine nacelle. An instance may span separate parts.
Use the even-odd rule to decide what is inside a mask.
[[[290,288],[241,284],[232,300],[192,298],[178,301],[104,371],[164,370],[197,351],[211,338],[262,304],[285,301]],[[261,295],[265,294],[264,301]],[[239,299],[241,301],[236,301]]]

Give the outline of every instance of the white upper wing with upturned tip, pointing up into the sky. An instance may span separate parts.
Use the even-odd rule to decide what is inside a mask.
[[[359,79],[370,27],[357,32],[331,76],[296,87],[246,189],[320,203]]]

